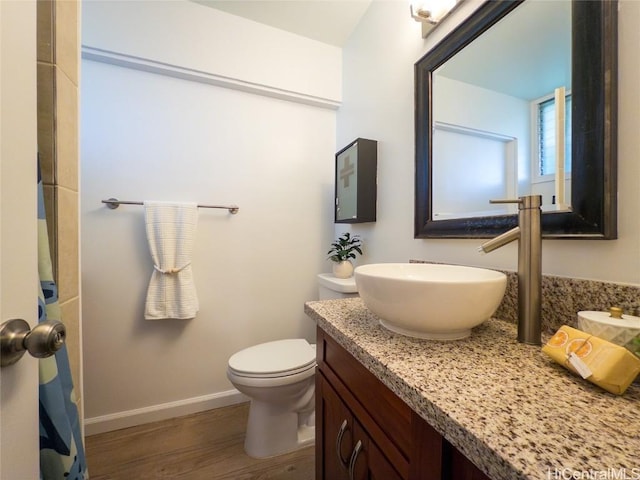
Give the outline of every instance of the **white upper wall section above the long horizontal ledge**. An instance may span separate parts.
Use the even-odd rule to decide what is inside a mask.
[[[341,97],[340,49],[186,0],[90,0],[82,44],[245,84]]]

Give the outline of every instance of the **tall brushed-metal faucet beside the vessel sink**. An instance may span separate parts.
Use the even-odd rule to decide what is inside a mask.
[[[527,195],[517,200],[518,226],[483,243],[478,251],[489,253],[518,240],[518,342],[540,345],[542,302],[542,196]]]

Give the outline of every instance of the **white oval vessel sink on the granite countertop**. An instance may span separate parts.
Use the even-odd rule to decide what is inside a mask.
[[[377,263],[354,271],[360,297],[397,333],[458,340],[494,314],[507,286],[504,273],[427,263]]]

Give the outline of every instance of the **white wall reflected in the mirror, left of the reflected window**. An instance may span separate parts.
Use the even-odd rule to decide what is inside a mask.
[[[442,75],[436,76],[434,90],[433,118],[475,131],[433,131],[433,149],[446,158],[433,171],[434,215],[516,211],[514,205],[489,205],[487,199],[513,198],[531,189],[529,102]],[[465,166],[468,174],[457,175]],[[436,183],[443,178],[447,181]]]

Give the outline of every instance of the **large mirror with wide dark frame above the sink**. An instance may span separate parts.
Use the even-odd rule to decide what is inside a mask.
[[[565,136],[556,134],[555,137],[557,143],[560,142],[558,139],[562,138],[562,141],[568,144],[568,149],[561,148],[561,151],[568,152],[567,177],[565,181],[556,181],[555,190],[556,194],[560,191],[561,198],[564,198],[564,185],[566,185],[566,199],[556,205],[556,194],[543,195],[543,198],[546,196],[550,198],[549,207],[543,208],[543,235],[545,238],[614,239],[617,237],[617,2],[610,0],[597,2],[573,0],[570,3],[499,0],[482,4],[474,14],[415,64],[415,238],[482,238],[497,235],[517,224],[516,212],[492,211],[489,206],[491,198],[486,198],[486,208],[484,205],[474,205],[462,213],[456,213],[458,208],[456,201],[459,199],[468,201],[474,195],[479,198],[517,197],[535,194],[537,193],[535,189],[541,188],[542,183],[533,185],[522,180],[527,176],[533,178],[538,170],[542,172],[538,157],[542,157],[539,152],[543,147],[540,135],[534,131],[537,128],[536,123],[540,122],[531,112],[534,112],[535,108],[542,111],[539,105],[542,105],[543,101],[536,99],[534,102],[529,98],[539,93],[529,93],[529,97],[522,100],[527,102],[526,108],[530,112],[529,118],[523,117],[521,122],[528,124],[528,127],[523,127],[523,130],[528,128],[528,132],[523,135],[512,132],[505,134],[499,127],[494,126],[495,122],[485,129],[478,128],[477,124],[469,126],[465,121],[457,119],[451,121],[451,115],[445,118],[447,113],[459,110],[462,113],[458,118],[464,118],[465,115],[469,118],[471,117],[470,106],[482,102],[468,98],[465,100],[464,94],[460,93],[462,90],[457,88],[451,90],[456,92],[453,103],[443,105],[439,97],[445,90],[441,85],[447,85],[440,79],[440,74],[454,71],[453,64],[459,64],[458,59],[465,54],[472,59],[472,65],[466,70],[475,74],[482,72],[483,68],[491,68],[488,66],[494,65],[492,64],[494,60],[506,60],[501,67],[492,68],[494,73],[500,74],[493,77],[498,78],[500,83],[507,83],[503,80],[511,71],[526,70],[532,65],[535,67],[532,54],[521,54],[520,56],[524,56],[527,61],[529,59],[531,61],[528,64],[527,62],[519,64],[517,58],[509,58],[508,54],[497,52],[497,47],[485,50],[485,53],[488,52],[486,58],[477,50],[472,50],[474,45],[491,37],[498,29],[506,28],[508,31],[510,29],[511,33],[507,41],[497,40],[493,43],[494,46],[504,44],[511,46],[517,42],[538,44],[541,43],[540,38],[551,37],[549,33],[552,29],[551,22],[555,17],[562,15],[547,14],[544,18],[536,20],[525,10],[535,4],[544,5],[545,8],[553,5],[562,8],[570,7],[566,14],[569,18],[566,50],[568,51],[567,62],[570,62],[570,65],[566,68],[569,73],[564,75],[569,79],[554,80],[556,83],[566,84],[562,89],[556,89],[556,102],[560,103],[560,98],[570,98],[570,101],[566,102],[567,121],[558,120],[563,117],[556,116],[556,123],[564,124],[567,128]],[[515,22],[518,15],[524,18],[523,22],[526,23],[518,27],[510,25],[509,22]],[[531,28],[533,38],[526,38],[522,25]],[[562,42],[563,40],[554,41]],[[561,48],[555,47],[553,50],[557,51]],[[470,51],[473,53],[468,54],[467,52]],[[551,57],[551,54],[546,55],[545,58]],[[535,69],[540,70],[538,67]],[[451,85],[454,87],[462,85],[461,77],[452,80],[454,73],[447,73],[447,75],[451,77],[447,79]],[[537,77],[529,74],[529,78],[512,81],[511,84],[522,86],[525,83],[533,83],[530,82],[531,78]],[[467,82],[466,79],[464,81]],[[542,80],[536,80],[536,82],[543,83]],[[451,86],[449,88],[451,89]],[[487,91],[493,87],[478,83],[473,85],[473,88]],[[558,91],[562,92],[562,96],[558,96]],[[503,92],[499,95],[505,96]],[[509,95],[512,93],[509,92]],[[518,101],[521,100],[518,99]],[[488,110],[503,113],[506,111],[505,107],[497,101],[492,100],[487,103],[490,106]],[[561,103],[565,104],[565,102]],[[442,118],[439,112],[445,112]],[[505,116],[506,123],[516,123],[515,117]],[[448,137],[451,138],[447,140]],[[467,142],[468,139],[470,139],[469,142]],[[462,148],[460,145],[465,143],[469,144],[466,150],[456,150]],[[526,145],[526,148],[523,148],[523,145]],[[493,163],[485,161],[480,154],[491,150],[499,151],[501,158],[504,156],[506,160],[492,161],[498,166],[490,166]],[[534,150],[538,153],[534,153]],[[504,153],[505,151],[507,153]],[[442,152],[448,153],[446,161],[443,160],[445,156],[441,154]],[[556,153],[560,159],[557,164],[562,165],[562,168],[556,165],[556,179],[565,178],[557,176],[559,171],[562,175],[565,174],[563,166],[565,162],[562,161],[561,155],[560,152]],[[509,156],[513,156],[515,160],[508,160]],[[505,182],[500,178],[500,182],[506,185],[501,183],[494,190],[488,189],[486,194],[483,191],[471,190],[474,184],[480,183],[478,172],[484,175],[493,171],[493,180],[496,183],[498,180],[495,177],[506,177],[508,172],[514,169],[516,170],[514,180]],[[531,173],[532,171],[534,173]],[[465,174],[467,177],[464,177]],[[539,178],[545,177],[540,173]],[[436,179],[435,183],[434,179]],[[533,180],[532,182],[535,183]],[[558,190],[558,185],[562,185],[561,190]],[[449,191],[449,197],[444,197],[446,200],[440,200],[440,196],[444,194],[439,190],[443,188]],[[527,191],[528,189],[533,191]]]

